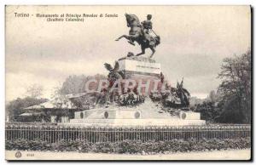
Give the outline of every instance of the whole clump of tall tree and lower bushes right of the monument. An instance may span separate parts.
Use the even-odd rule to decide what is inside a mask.
[[[202,119],[208,122],[250,123],[251,76],[251,50],[225,58],[218,73],[222,83],[217,93],[211,91],[207,101],[195,105],[195,111],[201,112]]]

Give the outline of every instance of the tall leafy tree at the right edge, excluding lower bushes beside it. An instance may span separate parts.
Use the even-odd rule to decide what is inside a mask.
[[[223,122],[251,122],[251,50],[233,58],[224,59],[218,77],[222,80],[218,89],[223,94]],[[234,119],[234,114],[239,119]],[[224,121],[226,119],[227,121]]]

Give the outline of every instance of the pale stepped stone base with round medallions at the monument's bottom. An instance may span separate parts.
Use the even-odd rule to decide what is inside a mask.
[[[73,126],[181,126],[202,125],[200,113],[177,111],[175,115],[162,111],[150,100],[136,107],[112,105],[87,111],[76,111],[75,118],[65,123]]]

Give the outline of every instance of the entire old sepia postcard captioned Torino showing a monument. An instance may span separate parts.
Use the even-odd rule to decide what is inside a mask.
[[[251,160],[250,6],[5,9],[7,160]]]

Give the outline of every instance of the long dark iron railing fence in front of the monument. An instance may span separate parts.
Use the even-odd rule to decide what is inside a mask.
[[[166,141],[172,139],[234,139],[251,136],[250,125],[148,126],[148,127],[73,127],[36,123],[6,123],[5,139],[86,140],[92,143],[122,140]]]

